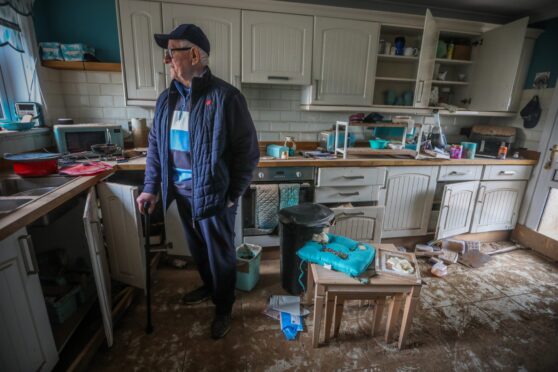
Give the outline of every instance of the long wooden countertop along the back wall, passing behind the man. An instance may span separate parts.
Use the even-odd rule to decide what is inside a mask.
[[[260,160],[258,167],[381,167],[381,166],[429,166],[429,165],[536,165],[531,159],[393,159],[393,158],[349,158],[349,159],[309,159],[300,156],[286,160]],[[118,170],[145,170],[145,158],[133,159],[116,164]]]

